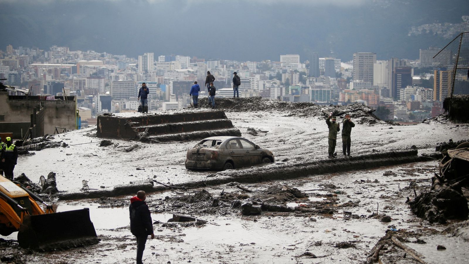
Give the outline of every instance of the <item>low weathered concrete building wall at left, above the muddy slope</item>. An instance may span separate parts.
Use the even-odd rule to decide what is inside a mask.
[[[55,98],[61,98],[56,96]],[[68,96],[67,101],[45,101],[38,96],[10,96],[6,91],[0,91],[0,115],[5,120],[0,122],[30,122],[33,109],[40,103],[44,108],[44,133],[53,134],[55,127],[65,127],[67,130],[76,129],[76,101],[74,96]],[[41,116],[42,117],[42,116]],[[38,118],[38,123],[41,118]],[[38,124],[41,126],[42,124]],[[0,131],[1,132],[1,131]]]

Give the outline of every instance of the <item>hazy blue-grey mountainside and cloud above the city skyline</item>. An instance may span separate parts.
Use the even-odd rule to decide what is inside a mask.
[[[412,27],[462,23],[465,0],[0,0],[1,47],[144,52],[205,59],[277,60],[318,52],[352,59],[416,59],[444,33]],[[449,39],[451,40],[451,39]]]

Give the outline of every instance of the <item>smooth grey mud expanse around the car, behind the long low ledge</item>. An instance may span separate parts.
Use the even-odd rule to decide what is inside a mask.
[[[241,130],[243,137],[272,150],[276,164],[267,166],[327,158],[327,125],[322,118],[289,116],[278,111],[226,114]],[[419,154],[431,153],[438,142],[469,139],[466,124],[394,126],[384,122],[369,125],[353,121],[356,126],[351,136],[352,155],[408,149],[413,145],[418,148]],[[250,127],[259,131],[257,135],[247,133]],[[54,171],[59,190],[78,191],[82,188],[83,179],[88,181],[90,188],[107,190],[118,184],[146,179],[182,184],[207,179],[207,175],[214,173],[185,169],[186,151],[194,147],[196,141],[146,144],[112,140],[113,145],[99,147],[102,139],[96,138],[95,133],[93,128],[88,128],[56,135],[54,141],[62,140],[69,146],[47,148],[34,151],[36,155],[21,156],[15,167],[15,175],[25,173],[32,181],[38,182],[41,175]],[[95,143],[82,144],[89,142]],[[125,152],[125,148],[133,145],[138,148]],[[340,140],[336,151],[340,155]],[[249,167],[238,169],[242,170],[249,170]]]

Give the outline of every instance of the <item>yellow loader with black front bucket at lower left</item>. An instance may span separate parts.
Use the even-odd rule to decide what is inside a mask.
[[[45,212],[36,201],[45,205]],[[28,188],[0,177],[0,234],[16,231],[22,248],[38,251],[98,243],[88,208],[55,212]]]

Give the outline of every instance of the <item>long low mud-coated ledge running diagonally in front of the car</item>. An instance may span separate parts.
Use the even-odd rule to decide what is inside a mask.
[[[381,167],[383,165],[396,165],[426,160],[417,156],[417,150],[401,150],[391,152],[378,152],[368,155],[353,156],[319,161],[303,161],[288,164],[270,164],[259,167],[251,167],[245,170],[220,171],[212,175],[211,179],[189,181],[174,184],[177,187],[215,186],[237,181],[240,183],[262,182],[276,179],[293,179],[310,175],[334,173],[342,171],[363,170]],[[153,186],[153,181],[136,183],[131,185],[115,186],[113,190],[97,190],[81,193],[61,193],[61,200],[114,197],[119,195],[135,194],[139,190],[156,192],[169,190],[166,186]]]

